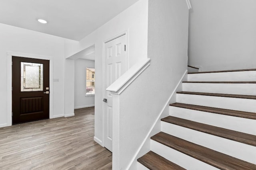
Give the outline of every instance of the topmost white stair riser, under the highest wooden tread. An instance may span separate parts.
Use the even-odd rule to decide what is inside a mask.
[[[255,81],[256,71],[188,74],[188,81]]]

